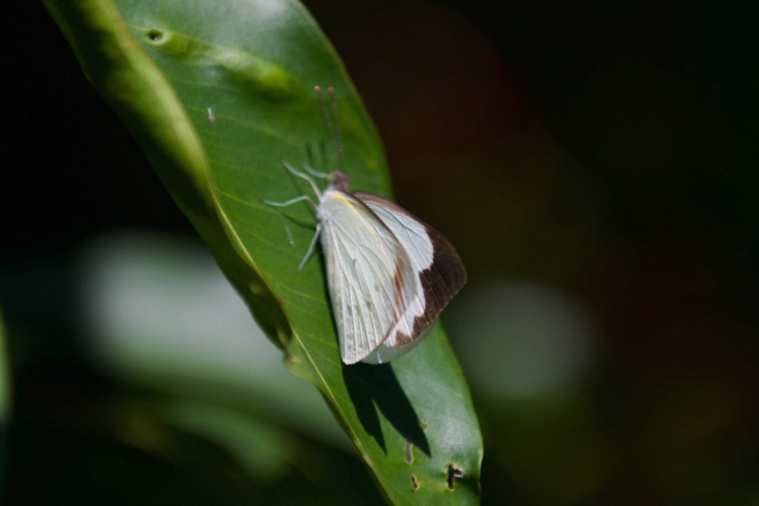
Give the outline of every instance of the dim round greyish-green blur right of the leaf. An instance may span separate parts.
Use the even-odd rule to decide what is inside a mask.
[[[473,390],[491,398],[561,398],[594,371],[600,325],[581,301],[537,281],[470,288],[457,308],[461,320],[446,322]]]

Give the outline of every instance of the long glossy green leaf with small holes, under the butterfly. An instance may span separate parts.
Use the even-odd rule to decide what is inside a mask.
[[[351,187],[390,196],[379,137],[326,37],[293,1],[46,0],[291,372],[319,388],[395,504],[475,504],[482,442],[439,325],[392,365],[345,366],[313,235],[261,198],[301,193],[282,167],[337,168],[313,86],[334,86]],[[324,154],[328,153],[328,154]],[[301,181],[302,183],[302,181]],[[302,186],[302,185],[301,185]]]

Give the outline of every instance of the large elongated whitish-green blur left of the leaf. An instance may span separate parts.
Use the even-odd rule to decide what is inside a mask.
[[[208,250],[118,231],[81,255],[80,314],[94,365],[145,388],[219,402],[351,448],[313,385],[288,373]]]

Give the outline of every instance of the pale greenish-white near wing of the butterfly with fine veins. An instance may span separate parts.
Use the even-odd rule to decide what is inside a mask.
[[[356,363],[386,341],[416,296],[417,278],[398,238],[361,200],[327,190],[319,213],[340,355]]]

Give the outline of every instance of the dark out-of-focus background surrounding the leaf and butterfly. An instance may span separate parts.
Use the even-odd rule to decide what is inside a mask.
[[[443,321],[483,429],[483,504],[756,504],[757,6],[306,4],[383,137],[396,200],[468,266]],[[0,200],[6,490],[106,501],[137,482],[156,504],[166,487],[299,504],[281,483],[230,485],[210,457],[177,467],[60,414],[128,389],[77,358],[68,259],[103,231],[191,227],[41,2],[21,8]],[[318,492],[298,470],[288,484],[381,502],[353,457],[292,437],[361,493]],[[72,446],[112,467],[93,475]]]

